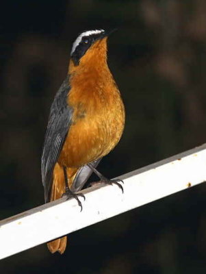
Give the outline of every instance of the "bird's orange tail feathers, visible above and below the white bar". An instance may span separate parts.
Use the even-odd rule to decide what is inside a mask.
[[[67,175],[69,184],[71,185],[73,182],[73,178],[77,173],[77,169],[67,169]],[[51,199],[50,201],[54,201],[56,199],[60,199],[62,194],[65,192],[65,180],[64,180],[64,171],[62,167],[57,163],[55,164],[53,170],[53,184],[51,188]],[[51,242],[47,242],[47,247],[51,253],[55,253],[56,251],[60,252],[60,254],[64,253],[66,249],[66,241],[67,237],[64,236],[62,238],[58,238],[56,240],[52,240]]]

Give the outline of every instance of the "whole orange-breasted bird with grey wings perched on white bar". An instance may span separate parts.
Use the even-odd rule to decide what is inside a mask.
[[[107,38],[113,31],[84,31],[73,42],[68,73],[57,91],[42,148],[45,203],[75,198],[92,172],[105,184],[116,184],[96,170],[118,144],[125,127],[125,107],[107,65]],[[85,197],[84,197],[85,198]],[[47,242],[51,253],[64,253],[67,236]]]

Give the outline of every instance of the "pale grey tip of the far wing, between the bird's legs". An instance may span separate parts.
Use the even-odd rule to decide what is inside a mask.
[[[101,159],[102,158],[100,158],[94,162],[90,162],[90,164],[92,164],[92,166],[94,166],[94,168],[96,168],[96,166],[99,164]],[[93,172],[92,169],[90,169],[90,167],[88,165],[81,166],[81,168],[77,171],[77,175],[75,176],[75,179],[73,181],[73,184],[72,184],[70,190],[72,190],[73,192],[77,192],[77,191],[81,190],[81,188],[83,188],[84,184],[86,184],[90,175],[92,175],[92,172]]]

